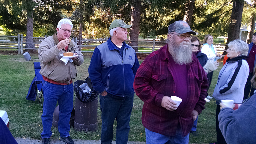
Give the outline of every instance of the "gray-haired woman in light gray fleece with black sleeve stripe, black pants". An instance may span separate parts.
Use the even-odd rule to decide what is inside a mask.
[[[217,143],[226,144],[226,141],[219,129],[218,115],[220,112],[219,103],[221,100],[234,100],[235,103],[242,103],[244,98],[244,85],[249,75],[247,63],[248,44],[241,40],[234,40],[228,44],[225,65],[219,72],[218,81],[212,96],[216,99],[216,131]]]

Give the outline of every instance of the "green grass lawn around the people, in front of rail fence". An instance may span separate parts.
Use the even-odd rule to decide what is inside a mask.
[[[33,62],[39,62],[37,54],[30,54],[32,60],[25,61],[23,55],[1,55],[0,54],[0,110],[7,111],[10,118],[9,129],[14,137],[30,137],[40,139],[42,127],[41,105],[34,101],[27,101],[26,95],[30,83],[34,77]],[[142,61],[140,61],[142,62]],[[78,76],[76,80],[84,80],[89,76],[88,67],[90,57],[84,57],[84,63],[77,67]],[[219,70],[214,72],[209,95],[212,95]],[[74,94],[75,98],[75,94]],[[216,101],[212,99],[206,103],[205,110],[198,118],[198,136],[190,135],[189,143],[216,142],[215,112]],[[75,104],[75,102],[74,102]],[[98,103],[98,106],[100,104]],[[146,141],[145,128],[141,123],[143,101],[136,95],[130,120],[129,141]],[[114,132],[116,122],[114,123]],[[52,139],[58,139],[58,128],[52,127]],[[99,140],[101,135],[101,111],[98,107],[98,129],[96,132],[76,131],[71,127],[70,135],[74,139]],[[115,139],[115,137],[114,137]]]

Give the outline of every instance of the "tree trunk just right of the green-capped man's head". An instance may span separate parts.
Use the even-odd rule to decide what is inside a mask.
[[[140,24],[140,9],[141,9],[141,0],[133,0],[132,4],[132,15],[131,15],[131,31],[130,31],[130,40],[139,40],[139,24]],[[129,42],[130,46],[138,46],[138,42]],[[133,47],[135,52],[138,51],[138,47]]]

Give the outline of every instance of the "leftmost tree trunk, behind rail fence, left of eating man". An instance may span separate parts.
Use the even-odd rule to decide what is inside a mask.
[[[33,12],[27,11],[27,33],[26,36],[33,37]],[[36,48],[33,38],[26,38],[26,48]]]

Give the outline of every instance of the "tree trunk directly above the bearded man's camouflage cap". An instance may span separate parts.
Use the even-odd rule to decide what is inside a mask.
[[[183,21],[187,22],[189,26],[191,26],[192,23],[192,15],[193,15],[193,9],[195,6],[195,0],[188,0],[186,2],[186,8],[185,8],[185,14]]]

